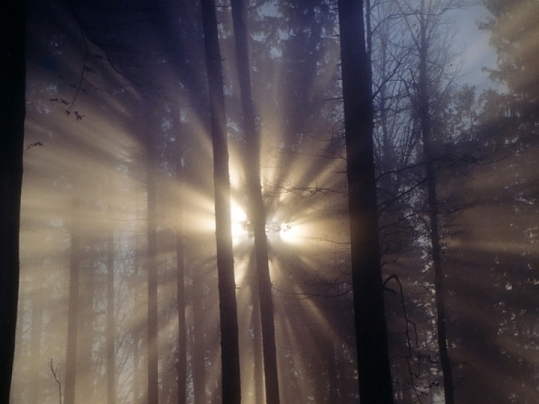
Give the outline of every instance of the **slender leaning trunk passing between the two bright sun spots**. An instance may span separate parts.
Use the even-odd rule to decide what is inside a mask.
[[[260,186],[260,136],[256,129],[255,110],[251,93],[251,73],[249,71],[244,0],[232,0],[231,5],[241,105],[244,112],[244,135],[246,140],[244,159],[246,162],[245,172],[250,202],[249,217],[253,225],[255,239],[255,265],[258,279],[260,321],[262,324],[266,403],[279,404],[279,376],[277,373],[272,282],[267,256],[266,215]]]

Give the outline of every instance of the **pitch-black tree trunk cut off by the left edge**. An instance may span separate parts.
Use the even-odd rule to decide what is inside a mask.
[[[25,130],[25,2],[0,22],[0,403],[8,403],[19,291],[19,223]]]

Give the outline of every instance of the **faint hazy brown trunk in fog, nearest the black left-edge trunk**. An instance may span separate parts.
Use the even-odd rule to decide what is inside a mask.
[[[81,202],[78,186],[73,187],[71,207],[71,246],[69,252],[69,307],[67,309],[67,351],[65,357],[64,404],[75,403],[77,336],[79,334],[79,278],[81,254]]]

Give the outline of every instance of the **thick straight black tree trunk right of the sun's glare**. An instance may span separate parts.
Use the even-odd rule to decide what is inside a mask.
[[[371,75],[363,1],[339,0],[352,288],[361,404],[393,402],[373,160]]]

